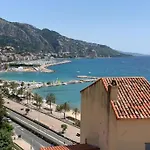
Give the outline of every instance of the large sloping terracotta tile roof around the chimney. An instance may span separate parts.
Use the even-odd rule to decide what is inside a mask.
[[[112,80],[118,85],[117,100],[111,100],[117,119],[150,118],[150,83],[144,77],[101,78],[106,91]]]

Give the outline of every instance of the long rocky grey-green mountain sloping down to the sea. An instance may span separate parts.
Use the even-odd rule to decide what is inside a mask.
[[[49,29],[9,22],[0,18],[0,46],[13,46],[17,52],[69,54],[71,57],[128,56],[106,45],[74,40]]]

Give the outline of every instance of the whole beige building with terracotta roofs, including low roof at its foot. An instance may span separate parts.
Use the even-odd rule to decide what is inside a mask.
[[[150,150],[150,83],[100,78],[81,91],[81,141],[41,150]]]

